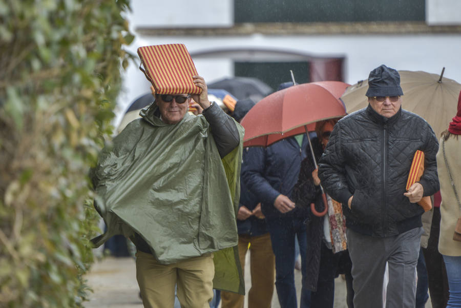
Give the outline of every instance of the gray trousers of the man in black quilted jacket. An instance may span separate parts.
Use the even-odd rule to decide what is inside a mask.
[[[389,266],[386,308],[414,308],[415,271],[423,228],[390,237],[371,237],[347,229],[352,261],[355,308],[383,306],[386,262]]]

